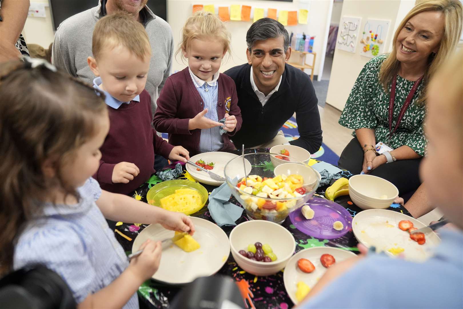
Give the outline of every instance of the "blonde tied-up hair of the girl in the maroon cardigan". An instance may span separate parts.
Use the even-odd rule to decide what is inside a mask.
[[[224,44],[224,51],[230,54],[231,35],[225,27],[223,21],[220,20],[220,18],[217,15],[210,12],[195,12],[192,16],[190,16],[187,19],[185,25],[183,25],[181,41],[178,44],[178,49],[175,53],[175,56],[177,56],[180,53],[183,59],[183,54],[181,51],[187,50],[191,40],[193,40],[194,38],[213,37],[218,37],[219,40],[221,40]]]

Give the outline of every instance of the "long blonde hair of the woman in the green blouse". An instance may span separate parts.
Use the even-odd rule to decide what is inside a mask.
[[[417,4],[408,12],[407,16],[402,19],[399,27],[395,31],[392,52],[388,55],[387,59],[381,65],[379,72],[379,81],[384,88],[384,91],[389,92],[390,84],[392,79],[397,75],[399,71],[400,62],[397,60],[397,37],[400,31],[403,29],[407,21],[416,14],[429,11],[438,11],[444,14],[445,25],[444,25],[444,36],[440,41],[439,49],[435,57],[430,56],[428,61],[428,67],[423,78],[424,88],[421,91],[421,95],[417,101],[418,104],[423,104],[425,101],[425,94],[427,90],[427,84],[434,74],[434,72],[444,63],[444,61],[451,55],[457,47],[460,33],[462,32],[462,4],[458,0],[426,0],[417,1]]]

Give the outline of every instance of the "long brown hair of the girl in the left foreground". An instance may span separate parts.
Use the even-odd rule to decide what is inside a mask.
[[[63,180],[63,166],[99,131],[107,113],[104,94],[45,65],[15,61],[0,65],[0,274],[11,270],[14,240],[37,203],[52,187],[78,197]],[[56,170],[50,180],[46,161]]]

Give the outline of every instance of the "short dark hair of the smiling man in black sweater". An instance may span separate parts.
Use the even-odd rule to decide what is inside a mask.
[[[261,18],[249,27],[246,33],[246,44],[248,45],[248,50],[251,51],[252,45],[254,45],[256,41],[265,41],[269,38],[280,37],[284,39],[283,45],[286,53],[289,47],[288,31],[286,31],[285,27],[275,19]]]

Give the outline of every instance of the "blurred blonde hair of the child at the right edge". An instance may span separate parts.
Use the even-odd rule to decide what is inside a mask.
[[[430,87],[433,91],[440,91],[441,100],[439,108],[444,110],[445,115],[453,119],[447,119],[452,130],[448,132],[455,139],[451,145],[452,151],[463,152],[463,52],[459,50],[449,61],[438,69],[432,76]],[[443,91],[444,89],[444,91]],[[463,167],[463,158],[460,156],[460,166]]]

